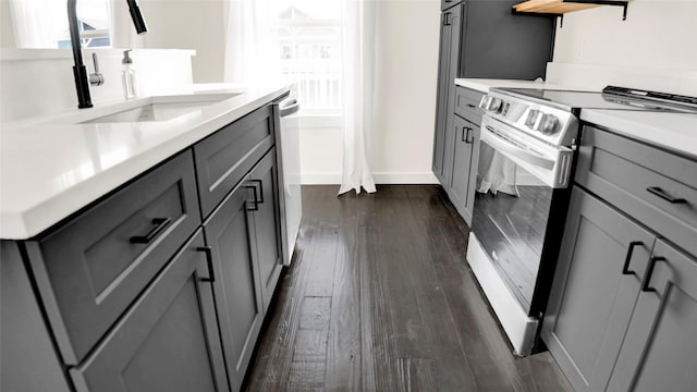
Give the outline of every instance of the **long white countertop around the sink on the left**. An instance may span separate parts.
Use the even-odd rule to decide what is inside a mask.
[[[208,85],[204,89],[241,91],[229,87]],[[181,95],[199,90],[192,88]],[[244,94],[169,121],[70,123],[71,119],[94,118],[109,110],[107,105],[95,105],[93,109],[0,124],[0,238],[26,240],[39,234],[288,90],[284,85],[246,88]],[[148,99],[122,103],[147,103]]]

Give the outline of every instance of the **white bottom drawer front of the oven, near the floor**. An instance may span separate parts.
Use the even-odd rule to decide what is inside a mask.
[[[511,294],[474,233],[469,233],[467,262],[497,314],[515,354],[526,356],[533,350],[539,320],[528,317]]]

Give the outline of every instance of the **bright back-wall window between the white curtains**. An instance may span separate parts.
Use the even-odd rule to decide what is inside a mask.
[[[297,85],[305,114],[338,115],[342,108],[341,9],[328,0],[279,0],[281,72]]]

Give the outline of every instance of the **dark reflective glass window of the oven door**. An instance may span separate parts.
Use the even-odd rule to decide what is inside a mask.
[[[484,143],[481,147],[490,148]],[[475,194],[472,230],[511,292],[528,310],[542,254],[552,188],[521,167],[515,166],[513,172],[517,196],[515,191],[494,195],[488,186],[478,186],[478,191],[486,189],[486,193]],[[481,181],[482,176],[478,174],[477,183],[481,184]]]

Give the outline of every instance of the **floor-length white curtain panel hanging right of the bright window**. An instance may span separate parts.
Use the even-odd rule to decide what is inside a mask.
[[[343,8],[343,168],[339,194],[363,187],[376,192],[368,164],[372,134],[375,0],[342,0]]]

